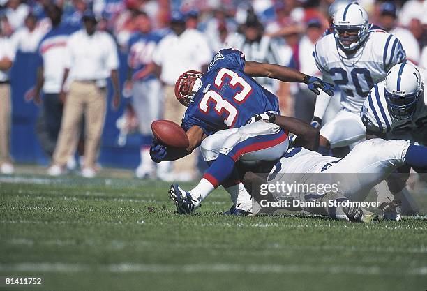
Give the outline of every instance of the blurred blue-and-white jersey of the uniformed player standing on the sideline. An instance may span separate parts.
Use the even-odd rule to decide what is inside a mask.
[[[154,50],[161,37],[156,33],[134,33],[128,43],[128,66],[133,69],[133,76],[151,63]],[[153,74],[143,80],[151,79]]]

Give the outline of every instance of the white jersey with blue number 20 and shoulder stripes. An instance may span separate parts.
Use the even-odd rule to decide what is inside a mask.
[[[382,30],[371,30],[364,45],[345,59],[334,34],[320,38],[313,56],[324,80],[334,82],[341,91],[341,105],[358,113],[370,89],[384,80],[389,68],[405,60],[400,40]]]

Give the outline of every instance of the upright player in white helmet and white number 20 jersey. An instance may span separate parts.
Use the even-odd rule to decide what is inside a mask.
[[[334,33],[318,40],[314,47],[316,64],[324,80],[339,87],[343,107],[320,130],[323,147],[344,147],[364,137],[359,112],[366,96],[389,68],[405,60],[398,38],[369,28],[364,8],[350,3],[334,15]]]

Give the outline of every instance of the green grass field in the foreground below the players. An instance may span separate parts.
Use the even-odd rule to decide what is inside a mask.
[[[427,290],[426,218],[222,216],[222,190],[182,216],[168,186],[2,177],[0,276],[45,283],[0,290]]]

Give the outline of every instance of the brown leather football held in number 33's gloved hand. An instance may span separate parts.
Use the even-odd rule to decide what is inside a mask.
[[[160,119],[151,124],[154,137],[170,147],[187,148],[189,141],[186,132],[173,121]]]

